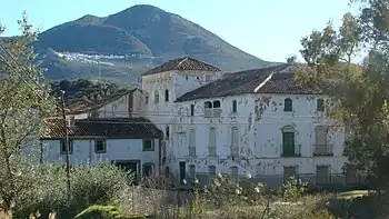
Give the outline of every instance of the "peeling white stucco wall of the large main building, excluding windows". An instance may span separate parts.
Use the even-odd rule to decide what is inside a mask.
[[[293,101],[293,111],[283,111],[285,98]],[[217,172],[230,173],[231,167],[238,167],[240,175],[282,176],[285,166],[298,166],[300,175],[316,173],[316,166],[330,165],[331,173],[341,173],[347,160],[343,150],[343,133],[329,130],[328,143],[333,145],[333,156],[317,157],[312,155],[315,145],[315,128],[318,125],[332,122],[325,119],[323,112],[316,111],[313,96],[285,94],[243,94],[177,103],[179,112],[173,120],[168,166],[172,173],[178,175],[179,161],[187,166],[194,165],[197,173],[208,173],[209,166],[216,166]],[[220,118],[205,118],[205,101],[220,100],[222,115]],[[238,101],[238,112],[232,113],[232,100]],[[190,117],[190,104],[194,104],[194,116]],[[258,106],[256,108],[256,106]],[[301,157],[282,158],[281,128],[291,126],[296,129],[295,142],[301,145]],[[218,157],[208,157],[209,129],[217,130]],[[240,155],[246,161],[232,161],[229,158],[231,128],[239,129]],[[189,130],[196,130],[197,157],[189,157]],[[179,132],[179,133],[176,133]],[[188,167],[187,167],[188,170]]]

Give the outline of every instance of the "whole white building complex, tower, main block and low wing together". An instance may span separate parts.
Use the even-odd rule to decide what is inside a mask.
[[[217,173],[278,187],[362,183],[342,155],[327,96],[295,82],[291,63],[225,74],[190,57],[141,74],[141,87],[67,107],[70,165],[116,163],[179,185]],[[51,119],[41,160],[63,162],[63,119]],[[346,167],[346,168],[345,168]]]

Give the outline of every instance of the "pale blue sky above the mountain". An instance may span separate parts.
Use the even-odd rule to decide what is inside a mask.
[[[23,11],[34,28],[44,31],[84,14],[106,17],[134,4],[177,13],[246,52],[281,62],[291,54],[300,61],[302,37],[329,20],[339,27],[346,12],[358,11],[349,0],[24,0],[2,2],[0,23],[6,26],[3,36],[14,36]]]

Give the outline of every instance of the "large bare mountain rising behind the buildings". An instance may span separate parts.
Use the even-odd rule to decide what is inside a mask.
[[[178,14],[134,6],[100,18],[84,16],[42,32],[37,61],[52,79],[103,79],[137,83],[143,71],[192,57],[225,71],[271,66]]]

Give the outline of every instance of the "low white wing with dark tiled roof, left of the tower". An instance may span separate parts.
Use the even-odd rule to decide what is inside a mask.
[[[41,140],[41,160],[66,163],[62,119],[52,119]],[[70,165],[117,163],[137,178],[161,169],[161,131],[144,118],[72,120],[69,127]]]

